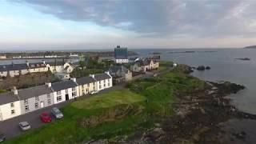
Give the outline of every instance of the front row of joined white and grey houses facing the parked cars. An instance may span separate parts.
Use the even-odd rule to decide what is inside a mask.
[[[109,72],[0,94],[0,121],[112,86]]]

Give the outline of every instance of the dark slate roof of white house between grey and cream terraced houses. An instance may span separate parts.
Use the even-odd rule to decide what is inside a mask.
[[[66,90],[68,88],[72,88],[75,86],[78,86],[78,85],[75,82],[73,82],[72,80],[55,82],[55,83],[52,83],[52,85],[51,85],[52,89],[55,91]]]

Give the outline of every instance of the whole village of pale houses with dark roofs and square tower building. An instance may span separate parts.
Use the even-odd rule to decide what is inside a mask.
[[[133,79],[154,77],[159,72],[158,68],[158,59],[128,58],[127,48],[120,46],[114,48],[114,59],[85,58],[76,63],[42,60],[39,63],[26,61],[22,64],[0,66],[2,82],[14,81],[6,90],[1,90],[0,121],[8,121],[83,96],[89,97],[88,95],[98,94],[99,91]],[[43,74],[47,77],[50,74],[50,79],[44,78],[45,81],[40,80],[41,82],[33,85],[20,82],[21,79],[30,79],[31,75],[36,79]],[[18,85],[18,82],[22,84]],[[30,122],[25,123],[30,126]]]

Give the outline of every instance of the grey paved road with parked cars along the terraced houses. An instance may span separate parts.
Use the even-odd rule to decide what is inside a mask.
[[[124,86],[125,86],[125,84],[121,84],[121,85],[118,85],[118,86],[113,86],[109,89],[101,90],[99,92],[99,94],[106,93],[106,92],[109,92],[109,91],[112,91],[112,90],[121,90],[121,89],[124,89]],[[82,96],[82,97],[78,98],[78,100],[79,99],[84,99],[84,98],[90,98],[90,97],[97,96],[97,95],[98,94],[95,94],[95,95],[92,95],[92,96],[88,96],[88,95]],[[24,133],[18,127],[19,122],[24,122],[24,121],[29,122],[32,129],[38,128],[38,127],[43,126],[43,125],[46,125],[46,123],[41,122],[41,120],[39,118],[39,115],[43,111],[50,112],[50,110],[53,107],[61,108],[63,106],[66,106],[70,102],[74,102],[74,99],[72,99],[70,101],[58,103],[58,104],[53,105],[53,106],[45,107],[43,109],[36,110],[36,111],[30,112],[28,114],[23,114],[23,115],[20,115],[18,117],[11,118],[11,119],[8,119],[6,121],[0,122],[0,132],[6,134],[6,139],[9,139],[9,138],[13,138],[13,137],[17,136],[18,134]],[[64,118],[65,118],[65,115],[64,115]],[[55,119],[53,118],[53,122],[54,121],[55,121]]]

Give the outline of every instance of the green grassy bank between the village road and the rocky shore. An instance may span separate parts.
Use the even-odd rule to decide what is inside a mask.
[[[127,89],[70,103],[65,117],[6,143],[84,143],[90,139],[130,135],[174,114],[176,94],[204,88],[198,78],[169,73],[158,78],[137,79]]]

